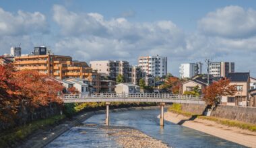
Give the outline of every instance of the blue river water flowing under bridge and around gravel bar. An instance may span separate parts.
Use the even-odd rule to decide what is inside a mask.
[[[160,128],[158,114],[160,110],[111,112],[110,125],[137,128],[170,147],[243,147],[168,121],[164,121],[164,128]],[[46,147],[120,147],[113,137],[98,128],[104,126],[104,122],[105,114],[96,114],[88,118],[84,126],[71,128]],[[97,126],[90,126],[92,124]]]

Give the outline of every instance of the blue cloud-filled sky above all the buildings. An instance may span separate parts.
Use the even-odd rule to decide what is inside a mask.
[[[79,61],[168,57],[168,72],[205,59],[235,63],[256,77],[253,0],[2,0],[0,54],[46,45]]]

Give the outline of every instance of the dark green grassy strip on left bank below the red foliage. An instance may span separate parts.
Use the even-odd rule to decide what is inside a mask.
[[[18,126],[0,134],[0,147],[11,147],[16,141],[22,141],[34,131],[51,126],[65,118],[65,115],[52,116],[41,120],[36,120],[24,126]]]

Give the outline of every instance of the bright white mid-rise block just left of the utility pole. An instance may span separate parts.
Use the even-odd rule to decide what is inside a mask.
[[[179,67],[181,79],[191,78],[191,77],[194,77],[195,75],[200,75],[202,74],[202,69],[203,69],[203,64],[200,62],[181,64],[181,66]]]

